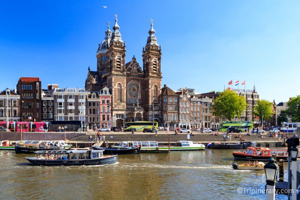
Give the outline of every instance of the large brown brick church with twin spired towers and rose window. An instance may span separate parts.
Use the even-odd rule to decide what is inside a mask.
[[[160,117],[161,48],[151,20],[147,41],[142,50],[142,67],[134,55],[125,61],[126,46],[121,38],[117,16],[113,32],[107,23],[105,38],[96,53],[97,70],[88,67],[85,89],[99,91],[105,86],[112,94],[112,126],[124,121],[158,121]]]

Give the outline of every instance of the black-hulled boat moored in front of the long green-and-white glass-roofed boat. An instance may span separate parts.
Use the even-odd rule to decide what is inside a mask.
[[[104,154],[136,154],[139,153],[140,146],[129,146],[128,142],[122,141],[117,145],[111,145],[110,148],[101,146],[92,146],[93,149],[104,150]]]

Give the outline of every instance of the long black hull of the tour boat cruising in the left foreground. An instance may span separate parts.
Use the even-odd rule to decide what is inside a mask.
[[[34,165],[103,165],[103,164],[112,164],[117,162],[117,155],[112,156],[104,156],[101,158],[96,159],[73,159],[73,160],[44,160],[44,159],[37,159],[36,157],[25,157],[30,163]]]

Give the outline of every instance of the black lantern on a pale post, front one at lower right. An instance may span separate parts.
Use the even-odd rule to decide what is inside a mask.
[[[264,172],[266,177],[266,200],[275,199],[275,182],[276,175],[279,169],[278,164],[274,163],[274,158],[269,158],[268,163],[264,165]]]

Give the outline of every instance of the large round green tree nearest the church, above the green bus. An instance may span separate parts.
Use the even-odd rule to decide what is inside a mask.
[[[220,92],[215,99],[212,113],[215,116],[231,120],[234,116],[240,117],[245,107],[244,97],[237,95],[234,91],[225,90]]]

